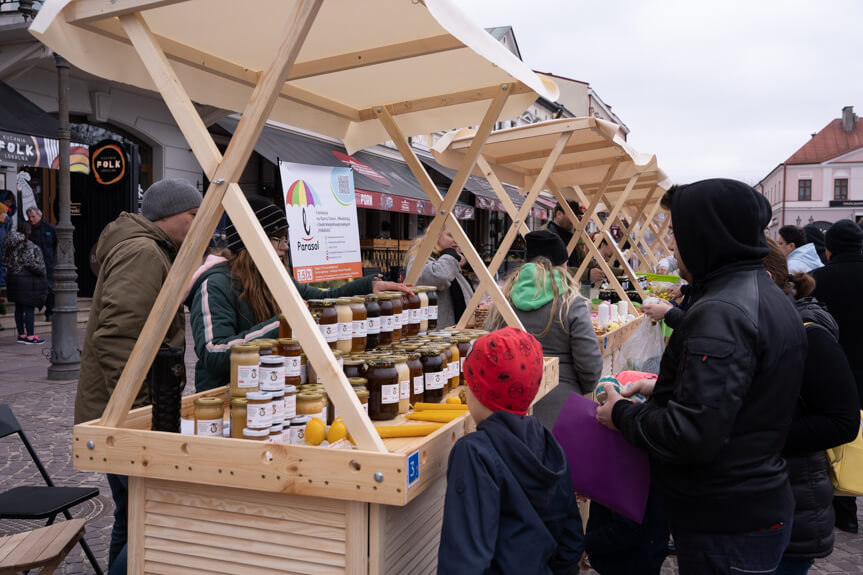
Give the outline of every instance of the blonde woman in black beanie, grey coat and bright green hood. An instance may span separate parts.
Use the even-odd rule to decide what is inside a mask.
[[[602,375],[602,355],[590,321],[588,302],[574,288],[566,269],[568,255],[563,241],[548,230],[525,236],[529,262],[507,279],[503,294],[512,304],[525,331],[542,344],[543,355],[560,361],[560,380],[534,406],[534,415],[551,429],[572,392],[593,391]],[[504,325],[492,308],[487,329]]]

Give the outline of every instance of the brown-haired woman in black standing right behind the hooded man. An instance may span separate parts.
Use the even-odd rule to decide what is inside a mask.
[[[802,575],[816,558],[833,551],[833,483],[824,450],[857,436],[859,400],[854,375],[837,341],[839,326],[809,295],[815,280],[805,273],[789,276],[782,249],[773,240],[768,242],[770,254],[764,258],[764,266],[779,289],[794,294],[808,342],[800,401],[782,450],[796,506],[791,542],[777,571]]]

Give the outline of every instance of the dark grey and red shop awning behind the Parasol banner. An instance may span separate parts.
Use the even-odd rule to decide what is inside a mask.
[[[237,129],[238,123],[234,118],[217,122],[231,134]],[[276,165],[279,160],[283,160],[314,166],[352,168],[358,208],[425,216],[435,214],[434,206],[403,161],[369,152],[348,155],[344,146],[339,144],[275,126],[264,128],[255,144],[255,151]],[[457,204],[455,212],[459,219],[473,218],[473,206]]]

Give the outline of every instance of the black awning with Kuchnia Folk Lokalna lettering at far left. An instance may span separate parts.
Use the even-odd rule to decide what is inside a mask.
[[[57,169],[60,144],[57,119],[0,82],[0,162]],[[87,146],[72,144],[71,169],[88,173]]]

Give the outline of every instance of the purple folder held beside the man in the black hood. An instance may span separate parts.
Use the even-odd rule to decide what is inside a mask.
[[[554,424],[575,491],[638,523],[650,490],[647,453],[596,420],[596,402],[572,393]]]

